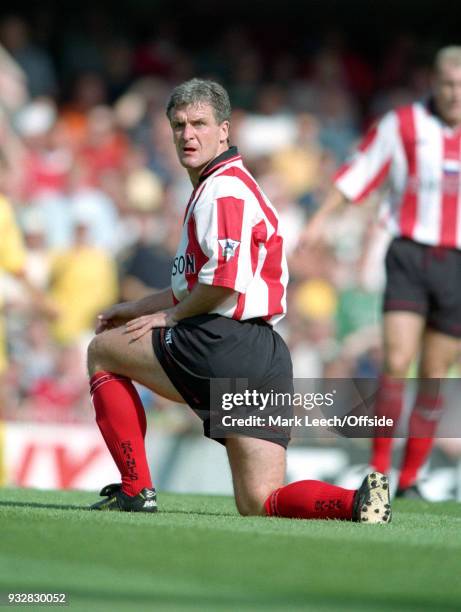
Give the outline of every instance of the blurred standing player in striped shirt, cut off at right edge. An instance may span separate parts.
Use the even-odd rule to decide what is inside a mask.
[[[420,355],[419,393],[409,423],[398,496],[419,496],[416,479],[433,444],[442,410],[437,379],[459,354],[461,337],[461,47],[435,58],[433,92],[425,102],[386,114],[337,172],[301,244],[315,245],[325,219],[345,202],[361,202],[386,180],[384,372],[378,414],[396,422],[404,380]],[[433,380],[429,380],[433,379]],[[434,380],[435,379],[435,380]],[[392,438],[373,440],[371,463],[388,472]]]

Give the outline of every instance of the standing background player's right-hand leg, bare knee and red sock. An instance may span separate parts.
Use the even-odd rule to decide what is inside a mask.
[[[431,452],[443,410],[440,379],[447,375],[459,355],[457,338],[427,329],[419,366],[420,385],[410,416],[409,437],[402,462],[399,493],[411,487]],[[435,379],[435,380],[428,380]]]

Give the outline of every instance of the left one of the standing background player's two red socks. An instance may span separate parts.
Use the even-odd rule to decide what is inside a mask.
[[[375,416],[385,416],[394,421],[397,427],[403,406],[403,392],[405,382],[400,379],[391,378],[383,374],[380,379],[379,390],[375,403]],[[379,432],[378,432],[379,433]],[[378,472],[387,473],[391,467],[392,438],[393,431],[386,428],[385,438],[375,435],[372,440],[372,452],[370,464]]]

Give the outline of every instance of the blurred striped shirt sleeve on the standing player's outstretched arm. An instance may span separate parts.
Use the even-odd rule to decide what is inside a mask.
[[[389,175],[397,142],[394,112],[385,115],[367,132],[350,160],[339,168],[335,186],[352,202],[360,202],[378,189]]]

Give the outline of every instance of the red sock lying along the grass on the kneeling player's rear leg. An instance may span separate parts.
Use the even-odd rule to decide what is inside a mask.
[[[351,520],[355,493],[319,480],[299,480],[273,491],[264,508],[268,516]]]

